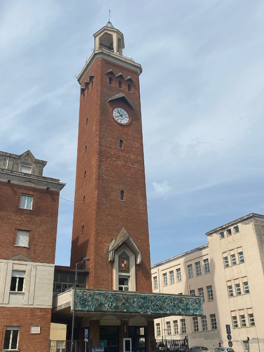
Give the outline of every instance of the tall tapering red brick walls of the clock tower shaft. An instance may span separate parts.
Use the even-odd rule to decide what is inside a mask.
[[[125,77],[131,76],[135,85],[121,77],[106,74],[110,68],[116,74],[122,72]],[[113,289],[108,250],[111,239],[116,238],[122,227],[125,227],[142,251],[142,263],[136,268],[136,289],[151,292],[138,73],[105,59],[95,61],[84,81],[90,73],[94,74],[93,89],[90,85],[89,94],[85,92],[85,100],[82,95],[80,99],[71,265],[79,262],[81,257],[88,256],[88,287]],[[112,87],[109,86],[109,77],[113,80]],[[123,84],[122,90],[118,88],[119,80]],[[132,86],[131,93],[127,91],[129,83]],[[110,97],[120,92],[129,97],[136,110],[132,110],[123,100],[108,103]],[[130,125],[120,126],[113,120],[111,110],[116,106],[123,107],[132,117]],[[124,149],[119,148],[121,137]],[[85,169],[87,172],[84,177]],[[121,188],[125,190],[125,201],[120,201]]]

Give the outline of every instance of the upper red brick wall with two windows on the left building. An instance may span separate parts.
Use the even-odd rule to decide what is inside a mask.
[[[33,210],[20,209],[21,194],[33,195]],[[0,182],[0,258],[23,254],[32,262],[55,262],[59,192]],[[29,248],[17,247],[16,230],[29,230]]]

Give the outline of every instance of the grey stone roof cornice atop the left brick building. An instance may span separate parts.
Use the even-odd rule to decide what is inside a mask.
[[[26,174],[20,171],[0,168],[0,181],[7,182],[8,180],[10,180],[11,183],[20,184],[23,186],[43,189],[48,187],[51,191],[58,192],[61,191],[66,185],[66,183],[62,183],[56,178]]]

